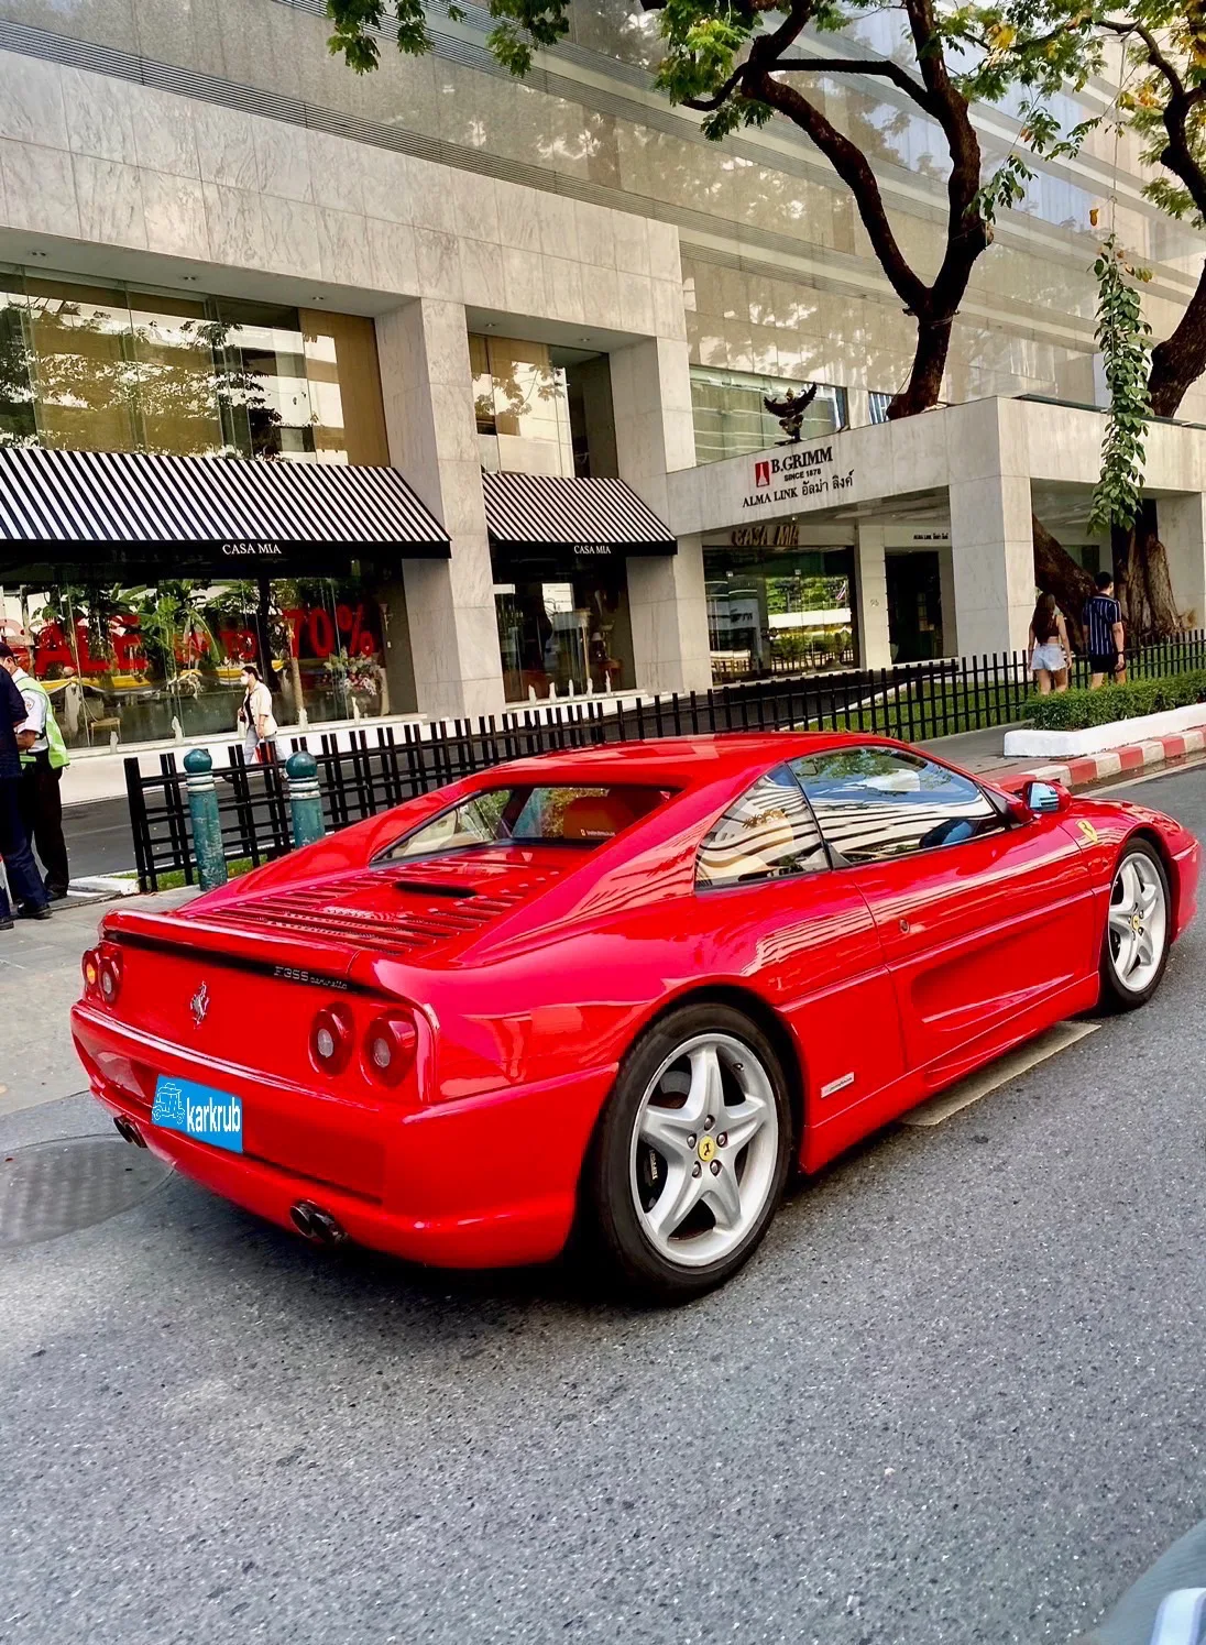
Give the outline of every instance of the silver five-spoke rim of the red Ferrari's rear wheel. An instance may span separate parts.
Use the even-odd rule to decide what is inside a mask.
[[[630,1148],[633,1206],[661,1257],[698,1268],[742,1244],[775,1184],[778,1128],[770,1074],[740,1040],[696,1035],[665,1059]]]

